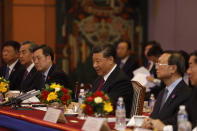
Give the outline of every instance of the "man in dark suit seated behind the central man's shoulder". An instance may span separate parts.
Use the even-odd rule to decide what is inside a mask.
[[[116,63],[130,79],[133,78],[133,71],[139,67],[137,58],[131,54],[131,45],[129,42],[119,42],[116,49]]]

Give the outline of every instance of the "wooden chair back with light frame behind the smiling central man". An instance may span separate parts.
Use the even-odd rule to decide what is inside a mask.
[[[146,88],[137,81],[131,81],[133,86],[133,103],[131,116],[142,115]]]

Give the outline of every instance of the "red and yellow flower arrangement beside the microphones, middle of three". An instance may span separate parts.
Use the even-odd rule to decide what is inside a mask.
[[[71,103],[71,90],[56,83],[46,84],[45,87],[38,96],[42,103],[50,104],[57,102],[60,105],[69,105]]]

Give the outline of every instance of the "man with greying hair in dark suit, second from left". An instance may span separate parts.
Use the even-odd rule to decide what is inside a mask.
[[[26,68],[23,80],[20,85],[20,91],[27,92],[33,89],[41,90],[44,88],[44,79],[42,73],[37,71],[33,63],[33,49],[37,45],[31,41],[24,41],[20,48],[19,59]]]

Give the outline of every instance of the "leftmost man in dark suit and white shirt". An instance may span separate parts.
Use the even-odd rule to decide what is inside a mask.
[[[19,90],[25,68],[20,64],[20,44],[16,41],[7,41],[2,45],[2,59],[5,64],[0,67],[0,76],[10,81],[10,90]]]

